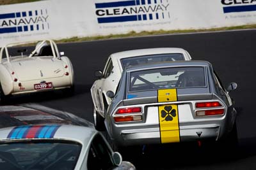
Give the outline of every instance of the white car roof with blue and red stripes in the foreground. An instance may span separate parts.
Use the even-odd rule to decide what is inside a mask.
[[[54,139],[86,144],[97,133],[92,127],[77,125],[21,125],[0,129],[0,142]]]

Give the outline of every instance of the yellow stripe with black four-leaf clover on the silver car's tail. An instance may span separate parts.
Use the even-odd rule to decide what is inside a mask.
[[[158,102],[177,101],[176,89],[158,90]],[[158,106],[161,143],[175,143],[180,141],[179,111],[177,104]]]

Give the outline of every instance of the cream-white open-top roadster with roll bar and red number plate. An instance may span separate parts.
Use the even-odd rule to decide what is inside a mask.
[[[32,42],[1,47],[1,100],[11,95],[47,90],[66,89],[71,92],[74,87],[74,71],[68,57],[60,56],[63,52],[60,54],[56,43],[50,39],[39,41],[31,52],[24,48],[29,43],[31,45]],[[12,50],[8,48],[10,46]],[[13,46],[19,46],[19,50]],[[15,49],[17,51],[13,53]],[[16,55],[17,52],[19,55]]]

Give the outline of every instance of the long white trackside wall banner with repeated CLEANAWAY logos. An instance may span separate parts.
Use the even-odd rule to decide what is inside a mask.
[[[0,6],[0,46],[246,24],[256,24],[256,0],[46,0]]]

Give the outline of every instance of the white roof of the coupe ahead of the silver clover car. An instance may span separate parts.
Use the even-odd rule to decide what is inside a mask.
[[[154,55],[159,53],[186,53],[182,48],[145,48],[139,50],[127,50],[124,52],[112,53],[110,56],[114,60],[120,60],[128,57],[138,57],[143,55]]]

